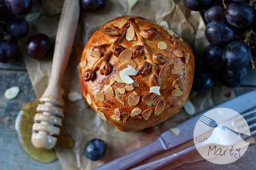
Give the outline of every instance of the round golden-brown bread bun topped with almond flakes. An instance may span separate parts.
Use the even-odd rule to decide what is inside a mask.
[[[188,99],[194,54],[173,31],[142,17],[118,17],[99,28],[80,62],[84,98],[123,131],[142,130],[176,114]]]

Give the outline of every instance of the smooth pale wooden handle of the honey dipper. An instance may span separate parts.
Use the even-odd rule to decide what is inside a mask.
[[[79,13],[79,0],[65,0],[55,40],[51,77],[43,97],[53,96],[62,100],[61,85],[73,46]]]

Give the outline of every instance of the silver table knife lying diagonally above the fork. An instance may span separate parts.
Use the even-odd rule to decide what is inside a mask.
[[[214,108],[230,108],[238,113],[244,112],[256,106],[256,90],[242,94],[236,98],[230,99]],[[211,109],[214,109],[211,108]],[[207,110],[208,111],[208,110]],[[197,116],[177,125],[175,128],[182,131],[178,136],[171,133],[170,130],[163,132],[155,141],[137,149],[125,156],[114,159],[113,161],[103,164],[94,170],[126,170],[134,164],[147,159],[164,150],[169,150],[184,142],[193,139],[193,131],[198,119],[207,111],[204,111]]]

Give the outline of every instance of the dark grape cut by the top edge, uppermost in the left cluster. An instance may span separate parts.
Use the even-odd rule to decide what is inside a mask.
[[[27,14],[32,7],[32,0],[6,0],[7,8],[15,15]]]

